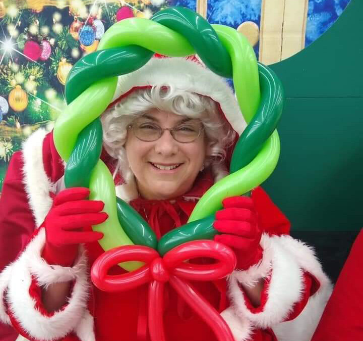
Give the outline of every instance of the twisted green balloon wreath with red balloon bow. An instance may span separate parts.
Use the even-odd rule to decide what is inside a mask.
[[[214,184],[199,200],[188,223],[159,241],[148,223],[115,196],[112,176],[100,160],[102,126],[99,116],[110,104],[117,76],[133,72],[158,53],[168,57],[198,54],[214,73],[232,78],[236,98],[247,128],[240,135],[231,159],[230,174]],[[86,186],[89,199],[102,200],[108,219],[94,230],[106,251],[92,268],[91,277],[103,290],[127,290],[149,282],[150,335],[164,340],[163,283],[169,281],[220,340],[233,340],[219,314],[199,296],[188,280],[211,280],[233,271],[235,256],[210,240],[214,213],[224,198],[248,193],[265,181],[276,167],[280,143],[276,125],[283,106],[283,89],[277,76],[256,61],[248,40],[233,28],[210,25],[197,13],[181,7],[156,13],[150,20],[130,18],[112,25],[96,52],[79,60],[66,83],[67,108],[54,126],[54,143],[67,162],[67,187]],[[115,248],[115,249],[114,249]],[[160,258],[160,256],[164,256]],[[185,261],[210,257],[218,262],[195,266]],[[130,274],[108,276],[115,264]],[[194,293],[194,294],[192,294]],[[156,322],[156,327],[152,325]]]

